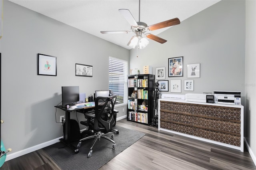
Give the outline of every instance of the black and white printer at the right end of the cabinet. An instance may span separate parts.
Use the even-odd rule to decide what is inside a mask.
[[[241,91],[213,91],[214,103],[241,105]]]

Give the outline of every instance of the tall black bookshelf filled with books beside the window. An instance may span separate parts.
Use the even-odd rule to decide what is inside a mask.
[[[150,125],[154,114],[155,75],[128,76],[127,120]]]

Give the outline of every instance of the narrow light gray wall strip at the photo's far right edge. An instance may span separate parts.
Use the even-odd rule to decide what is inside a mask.
[[[256,162],[256,1],[246,1],[245,136]]]

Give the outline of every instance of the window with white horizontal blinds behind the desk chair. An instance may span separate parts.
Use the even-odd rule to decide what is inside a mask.
[[[122,59],[109,57],[108,60],[108,87],[117,96],[116,101],[119,104],[127,103],[127,74],[128,62]]]

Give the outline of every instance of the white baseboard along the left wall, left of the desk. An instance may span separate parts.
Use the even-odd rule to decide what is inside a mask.
[[[26,148],[24,150],[20,150],[18,152],[14,152],[14,153],[11,153],[11,154],[7,154],[6,155],[6,160],[5,161],[8,161],[8,160],[11,160],[11,159],[14,159],[14,158],[17,158],[19,156],[22,156],[22,155],[25,155],[25,154],[28,154],[30,152],[34,152],[36,150],[39,150],[39,149],[42,149],[46,146],[50,146],[52,144],[55,144],[57,142],[60,142],[60,138],[63,138],[63,137],[59,137],[59,138],[56,138],[56,139],[53,139],[53,140],[50,140],[50,141],[47,141],[47,142],[44,142],[44,143],[41,143],[41,144],[38,144],[36,146],[32,146],[30,148]],[[10,152],[9,152],[10,153]]]

